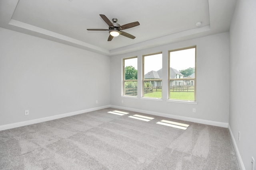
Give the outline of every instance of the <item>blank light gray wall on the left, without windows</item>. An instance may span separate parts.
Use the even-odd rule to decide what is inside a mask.
[[[0,125],[110,104],[110,57],[3,28],[0,37]]]

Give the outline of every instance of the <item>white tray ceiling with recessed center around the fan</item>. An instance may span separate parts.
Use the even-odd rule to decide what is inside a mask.
[[[117,55],[229,31],[236,0],[0,0],[0,27]],[[139,21],[124,36],[107,41],[99,14],[120,25]],[[196,22],[202,25],[197,27]]]

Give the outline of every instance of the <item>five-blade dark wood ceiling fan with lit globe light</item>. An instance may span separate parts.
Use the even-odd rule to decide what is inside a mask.
[[[116,18],[112,19],[112,21],[113,21],[113,23],[112,23],[110,20],[108,20],[108,18],[105,15],[100,14],[100,17],[108,24],[108,26],[109,26],[108,29],[87,29],[88,31],[109,31],[110,35],[108,37],[108,41],[111,41],[114,37],[117,37],[118,35],[123,35],[123,36],[131,38],[131,39],[135,38],[133,35],[126,33],[124,31],[121,31],[121,30],[136,27],[136,26],[140,25],[140,23],[138,21],[132,22],[132,23],[127,23],[127,24],[124,24],[121,26],[118,23],[116,23],[117,22]]]

